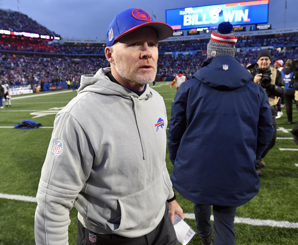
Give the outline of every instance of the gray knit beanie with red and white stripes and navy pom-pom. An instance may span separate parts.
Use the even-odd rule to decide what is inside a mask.
[[[207,56],[215,57],[220,55],[235,56],[237,37],[233,32],[233,25],[230,22],[222,22],[218,25],[217,31],[211,34],[207,45]]]

